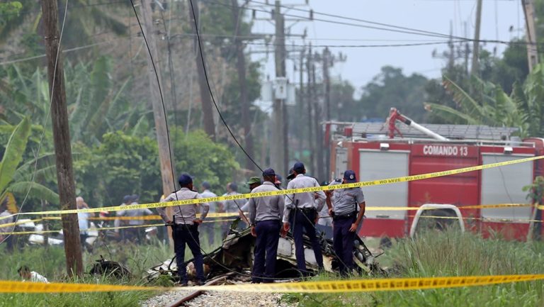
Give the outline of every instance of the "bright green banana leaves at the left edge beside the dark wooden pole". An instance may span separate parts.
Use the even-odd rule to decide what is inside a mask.
[[[59,196],[55,191],[32,180],[23,179],[19,164],[23,160],[23,152],[26,149],[30,136],[30,120],[23,118],[18,123],[8,140],[4,156],[0,162],[0,199],[4,199],[8,193],[28,194],[34,199],[43,199],[50,203],[59,203]],[[23,164],[23,167],[26,164]],[[18,175],[19,174],[19,175]]]

